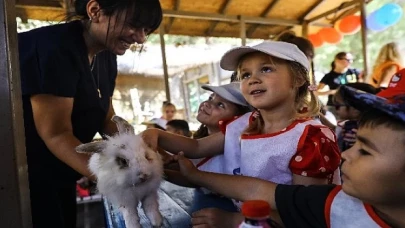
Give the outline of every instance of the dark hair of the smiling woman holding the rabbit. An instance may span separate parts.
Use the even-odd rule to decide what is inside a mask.
[[[104,14],[111,16],[117,13],[117,18],[124,15],[126,21],[134,28],[150,29],[148,33],[155,31],[163,19],[162,7],[159,0],[96,0]],[[76,0],[75,12],[69,13],[67,20],[89,19],[87,15],[87,3],[89,0]],[[126,13],[125,13],[126,12]],[[131,18],[127,18],[127,17]],[[147,34],[147,35],[149,35]]]

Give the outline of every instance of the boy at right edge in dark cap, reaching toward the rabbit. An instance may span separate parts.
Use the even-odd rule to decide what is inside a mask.
[[[343,184],[283,185],[201,172],[179,156],[184,177],[238,200],[270,203],[273,220],[291,228],[405,227],[405,69],[377,95],[342,86],[339,95],[363,112],[356,143],[342,153]]]

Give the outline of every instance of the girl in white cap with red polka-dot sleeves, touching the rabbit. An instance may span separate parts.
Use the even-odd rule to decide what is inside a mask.
[[[293,44],[269,41],[234,48],[220,64],[238,72],[241,92],[257,110],[229,123],[225,132],[200,140],[148,130],[145,141],[189,158],[223,152],[217,173],[283,184],[330,183],[340,163],[339,149],[334,133],[312,119],[319,107],[310,91],[305,54]]]

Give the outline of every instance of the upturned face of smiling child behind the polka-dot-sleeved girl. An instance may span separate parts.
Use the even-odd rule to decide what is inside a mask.
[[[218,127],[220,120],[228,120],[238,112],[237,106],[224,98],[211,94],[207,101],[200,104],[197,120],[209,127]]]

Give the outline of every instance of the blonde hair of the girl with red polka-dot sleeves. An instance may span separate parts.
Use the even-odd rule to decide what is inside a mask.
[[[253,54],[253,53],[251,53]],[[241,63],[251,54],[247,54],[239,60],[238,78],[240,80]],[[310,91],[308,86],[311,85],[308,70],[298,62],[288,61],[273,56],[269,56],[270,62],[274,65],[287,64],[290,76],[293,79],[295,86],[295,110],[294,119],[312,118],[319,115],[320,105],[319,100],[313,91]],[[263,118],[259,115],[253,120],[249,127],[244,131],[245,134],[260,134],[264,128]]]

